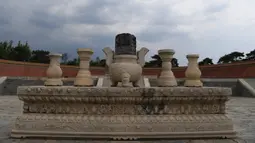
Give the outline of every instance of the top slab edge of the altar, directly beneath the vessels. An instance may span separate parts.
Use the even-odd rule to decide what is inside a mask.
[[[150,87],[150,88],[117,88],[117,87],[45,87],[20,86],[18,95],[74,95],[74,96],[229,96],[231,89],[221,87]],[[131,93],[131,94],[130,94]],[[146,94],[149,93],[149,94]]]

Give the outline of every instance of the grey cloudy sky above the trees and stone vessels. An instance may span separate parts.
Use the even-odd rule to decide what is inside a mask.
[[[0,0],[0,40],[28,41],[33,49],[69,53],[114,48],[118,33],[132,33],[138,48],[171,48],[218,58],[255,47],[255,0]]]

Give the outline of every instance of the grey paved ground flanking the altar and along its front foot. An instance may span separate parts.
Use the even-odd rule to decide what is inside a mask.
[[[10,132],[17,116],[22,114],[23,103],[17,96],[0,96],[0,142],[1,143],[110,143],[111,141],[82,141],[82,140],[59,140],[53,139],[11,139]],[[240,143],[255,142],[255,98],[230,97],[227,102],[227,116],[233,119],[234,129],[238,133]],[[226,140],[216,140],[214,143],[225,143]],[[178,141],[142,141],[143,143],[187,143],[187,140]],[[197,143],[201,143],[196,141]],[[232,142],[234,142],[232,140]],[[112,143],[124,143],[114,142]],[[138,143],[133,141],[132,143]],[[235,142],[234,142],[235,143]]]

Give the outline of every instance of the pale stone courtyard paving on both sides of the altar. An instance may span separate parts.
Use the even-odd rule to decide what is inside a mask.
[[[21,114],[21,109],[22,102],[17,96],[0,96],[0,143],[28,143],[28,141],[9,138],[11,126],[15,118]],[[233,119],[239,137],[247,143],[255,143],[255,98],[231,97],[227,104],[227,113]],[[43,142],[45,143],[45,141]],[[50,143],[51,141],[46,142]],[[32,141],[31,143],[41,142]],[[182,142],[177,141],[175,143]]]

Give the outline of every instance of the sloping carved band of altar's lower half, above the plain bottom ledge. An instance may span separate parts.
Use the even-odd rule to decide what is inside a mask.
[[[51,131],[115,132],[189,132],[232,130],[231,120],[224,115],[175,116],[79,116],[23,115],[16,129]]]

